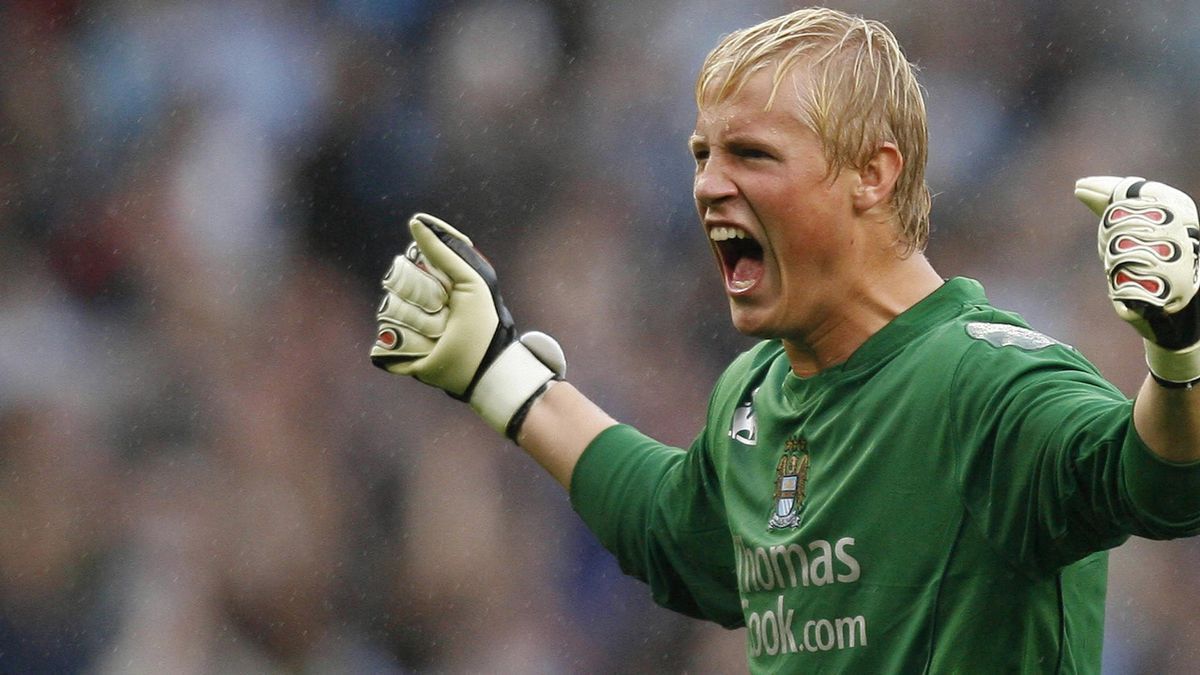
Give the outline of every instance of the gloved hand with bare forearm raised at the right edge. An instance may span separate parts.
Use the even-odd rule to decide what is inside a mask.
[[[1141,178],[1091,177],[1075,196],[1100,216],[1109,298],[1141,334],[1150,375],[1134,404],[1142,441],[1200,461],[1200,223],[1190,197]]]

